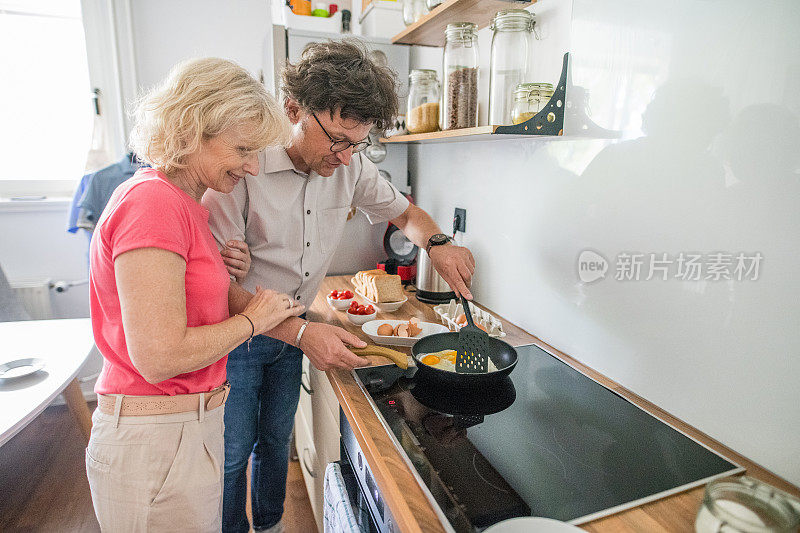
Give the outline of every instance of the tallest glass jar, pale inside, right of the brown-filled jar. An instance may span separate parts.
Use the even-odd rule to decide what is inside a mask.
[[[511,124],[512,92],[529,79],[533,25],[533,14],[524,9],[499,11],[492,20],[489,124]]]

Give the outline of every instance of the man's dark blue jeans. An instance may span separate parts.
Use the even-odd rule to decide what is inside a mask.
[[[225,487],[222,530],[246,533],[247,460],[253,528],[277,524],[283,514],[289,438],[300,398],[303,354],[299,348],[259,335],[228,356],[231,391],[225,404]]]

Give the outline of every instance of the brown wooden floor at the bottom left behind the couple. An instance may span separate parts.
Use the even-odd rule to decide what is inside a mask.
[[[94,410],[94,405],[90,405]],[[289,463],[287,533],[316,530],[299,463]],[[66,406],[52,406],[0,447],[0,532],[97,532],[84,443]]]

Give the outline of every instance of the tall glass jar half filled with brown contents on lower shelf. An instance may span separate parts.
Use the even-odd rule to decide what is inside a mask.
[[[443,130],[478,125],[478,26],[454,22],[445,30],[442,64]]]

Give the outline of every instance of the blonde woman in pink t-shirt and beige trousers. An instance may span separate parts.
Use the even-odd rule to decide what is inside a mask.
[[[257,174],[284,121],[264,87],[222,59],[177,65],[138,104],[131,147],[151,168],[117,188],[91,244],[104,364],[86,470],[104,531],[221,528],[227,354],[303,308],[260,287],[244,309],[229,306],[199,202]]]

